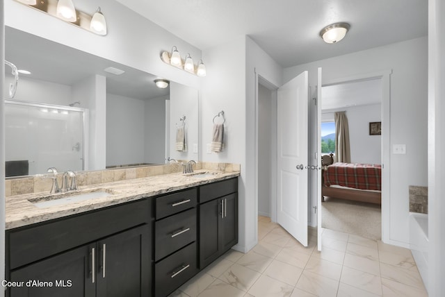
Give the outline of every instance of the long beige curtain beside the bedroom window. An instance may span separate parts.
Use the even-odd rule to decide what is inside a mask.
[[[335,112],[335,159],[350,163],[349,126],[346,112]]]

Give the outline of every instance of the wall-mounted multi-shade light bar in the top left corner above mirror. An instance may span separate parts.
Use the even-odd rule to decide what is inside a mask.
[[[104,14],[98,7],[94,14],[76,10],[73,0],[15,0],[30,8],[57,17],[78,28],[104,36],[107,33]]]

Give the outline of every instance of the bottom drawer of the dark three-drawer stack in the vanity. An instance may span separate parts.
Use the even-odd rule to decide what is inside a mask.
[[[196,273],[194,242],[154,265],[154,296],[168,296]]]

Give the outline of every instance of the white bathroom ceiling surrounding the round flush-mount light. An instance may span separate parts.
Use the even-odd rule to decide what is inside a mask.
[[[117,1],[198,49],[248,35],[282,67],[428,34],[426,0]],[[334,22],[348,22],[350,31],[325,44],[318,33]]]

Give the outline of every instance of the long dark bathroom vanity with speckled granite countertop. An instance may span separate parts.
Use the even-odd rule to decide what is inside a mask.
[[[42,208],[10,197],[6,296],[168,296],[237,243],[238,175],[99,184],[108,196]]]

